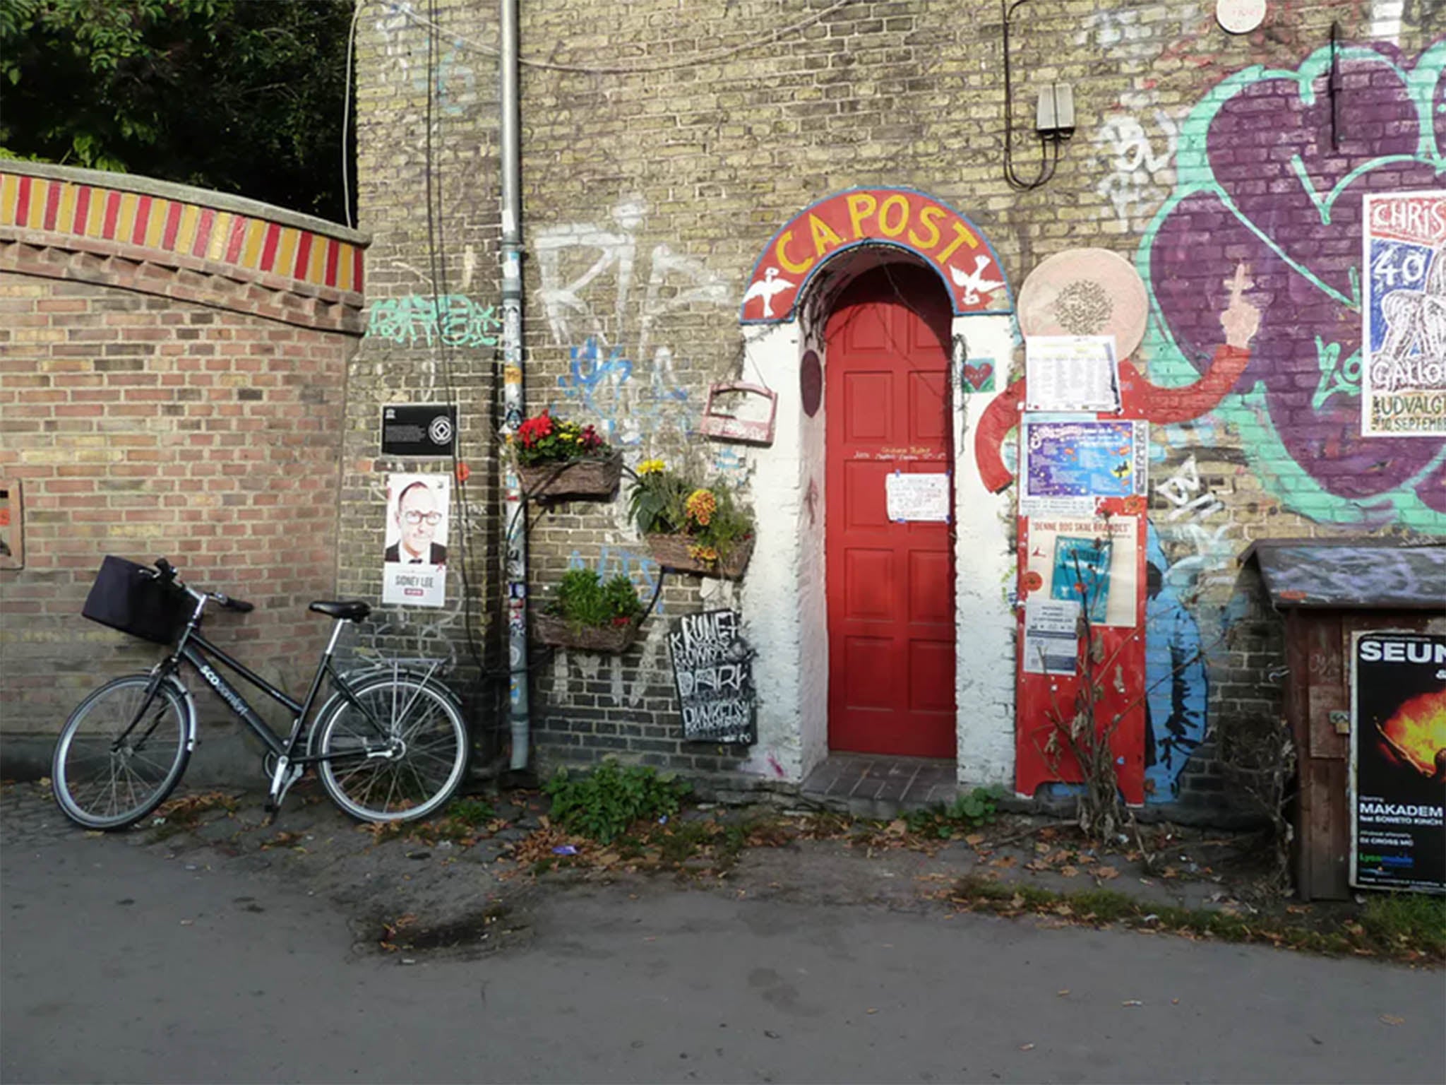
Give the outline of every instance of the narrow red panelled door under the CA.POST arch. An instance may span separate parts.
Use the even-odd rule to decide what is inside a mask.
[[[927,269],[868,272],[826,330],[829,745],[954,757],[947,524],[891,524],[891,472],[950,469],[949,298]],[[953,512],[953,509],[950,509]]]

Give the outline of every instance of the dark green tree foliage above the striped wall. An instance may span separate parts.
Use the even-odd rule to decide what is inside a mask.
[[[343,220],[351,13],[351,0],[0,0],[0,156]]]

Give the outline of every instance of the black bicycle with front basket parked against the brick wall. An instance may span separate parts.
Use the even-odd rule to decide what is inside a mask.
[[[363,822],[403,822],[440,809],[463,781],[471,744],[461,705],[434,678],[401,664],[343,673],[333,663],[348,622],[364,619],[364,602],[314,602],[335,625],[296,702],[201,634],[208,603],[246,613],[253,605],[221,592],[188,587],[165,558],[155,569],[108,556],[82,613],[123,632],[175,647],[149,673],[106,683],[82,700],[61,731],[51,787],[61,810],[87,829],[124,829],[166,800],[197,745],[197,713],[179,674],[189,664],[265,744],[269,813],[315,767],[331,800]],[[224,663],[291,715],[285,738],[275,732],[211,665]],[[322,683],[330,696],[307,726]]]

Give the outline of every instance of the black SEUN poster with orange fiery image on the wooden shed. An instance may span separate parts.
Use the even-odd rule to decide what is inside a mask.
[[[1352,638],[1351,884],[1446,893],[1446,637]]]

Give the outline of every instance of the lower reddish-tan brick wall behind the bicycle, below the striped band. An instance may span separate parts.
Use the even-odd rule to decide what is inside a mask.
[[[137,181],[158,200],[213,197],[106,179]],[[14,210],[0,203],[0,477],[20,483],[25,541],[23,569],[0,570],[7,757],[45,752],[85,692],[159,658],[81,618],[106,554],[165,556],[191,583],[253,602],[246,616],[217,613],[208,635],[305,692],[328,632],[305,605],[335,590],[359,298],[68,223],[46,230]]]

